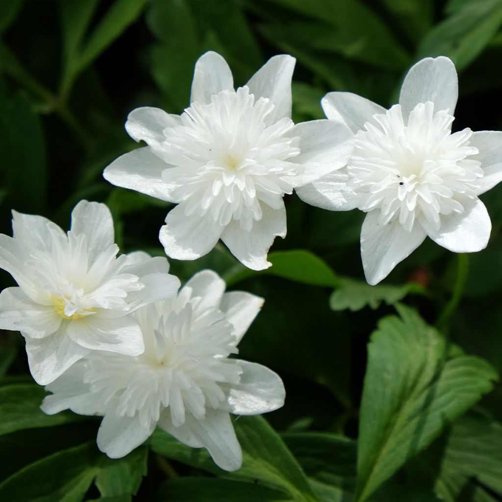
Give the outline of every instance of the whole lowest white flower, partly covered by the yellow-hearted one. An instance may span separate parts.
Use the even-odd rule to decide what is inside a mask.
[[[173,300],[138,310],[145,352],[93,352],[47,386],[54,394],[42,410],[104,416],[97,444],[112,458],[127,455],[158,425],[191,447],[207,448],[222,469],[238,469],[242,453],[229,413],[276,410],[285,391],[270,369],[228,358],[263,300],[224,290],[218,275],[205,270]]]

